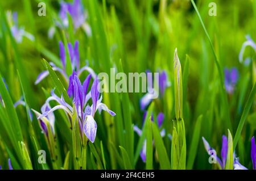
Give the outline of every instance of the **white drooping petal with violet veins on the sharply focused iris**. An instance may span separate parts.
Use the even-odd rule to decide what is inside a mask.
[[[97,123],[93,119],[93,117],[89,115],[87,116],[87,119],[85,121],[84,133],[91,142],[94,142],[96,138],[96,132],[97,132]]]

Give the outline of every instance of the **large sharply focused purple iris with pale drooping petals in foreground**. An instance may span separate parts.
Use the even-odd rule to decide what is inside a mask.
[[[77,74],[73,72],[69,81],[68,95],[73,98],[73,104],[75,104],[77,118],[79,119],[81,136],[83,133],[85,133],[85,136],[91,142],[94,142],[97,132],[97,123],[94,120],[96,111],[98,110],[101,113],[101,111],[104,110],[107,111],[111,116],[115,116],[115,113],[109,110],[109,108],[104,103],[101,103],[102,95],[100,96],[100,92],[98,91],[99,81],[97,78],[94,79],[92,87],[88,92],[91,77],[92,75],[89,74],[85,81],[81,83]],[[88,104],[89,99],[92,99],[91,106]],[[53,108],[49,107],[49,102],[51,100],[55,100],[57,103],[59,103],[59,105]],[[65,102],[63,96],[59,98],[57,95],[53,94],[53,92],[52,96],[46,100],[44,107],[48,107],[50,110],[42,110],[42,115],[38,116],[39,120],[50,116],[51,113],[53,113],[55,110],[63,109],[69,117],[72,117],[73,112],[75,111],[73,110],[72,106]],[[53,124],[54,122],[51,125]]]

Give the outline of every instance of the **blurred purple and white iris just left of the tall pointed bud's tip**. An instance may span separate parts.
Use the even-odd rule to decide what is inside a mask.
[[[148,90],[152,89],[152,85],[153,85],[152,77],[148,77],[148,80],[147,80]],[[164,91],[166,90],[166,88],[168,86],[170,86],[170,82],[168,82],[166,71],[163,70],[162,73],[159,73],[160,96],[164,96]],[[140,100],[141,110],[144,110],[148,106],[148,104],[150,104],[152,102],[152,100],[154,99],[154,94],[152,92],[154,92],[154,91],[156,91],[156,90],[153,89],[153,90],[151,90],[151,92],[147,92],[141,98],[141,100]]]

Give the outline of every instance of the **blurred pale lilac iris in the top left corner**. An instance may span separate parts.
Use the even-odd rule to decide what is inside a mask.
[[[10,11],[7,12],[7,20],[9,23],[9,26],[11,28],[11,33],[16,40],[17,43],[21,43],[23,40],[23,36],[27,37],[31,41],[34,41],[34,36],[30,33],[26,32],[23,27],[18,27],[18,13],[14,12],[11,14]]]

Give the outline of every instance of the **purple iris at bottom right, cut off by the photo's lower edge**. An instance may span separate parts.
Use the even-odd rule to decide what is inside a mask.
[[[207,153],[210,156],[213,155],[213,151],[216,152],[216,150],[214,148],[210,147],[209,143],[207,142],[207,140],[205,140],[204,137],[202,137],[202,138],[203,138],[205,150],[207,150]],[[221,159],[216,155],[217,165],[222,170],[225,169],[227,156],[228,156],[228,138],[225,135],[223,135],[222,136]],[[242,166],[239,163],[239,160],[238,160],[238,158],[236,158],[235,154],[234,154],[234,169],[236,169],[236,170],[245,170],[246,169],[244,166]]]

